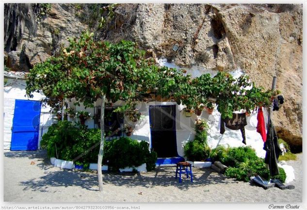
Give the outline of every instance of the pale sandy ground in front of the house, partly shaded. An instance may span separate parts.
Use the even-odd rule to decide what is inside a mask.
[[[226,178],[210,168],[193,168],[194,182],[175,179],[175,166],[159,166],[144,173],[97,174],[54,167],[45,151],[4,152],[4,202],[302,202],[302,160],[294,168],[293,190],[264,190],[249,182]],[[34,162],[34,164],[31,164]]]

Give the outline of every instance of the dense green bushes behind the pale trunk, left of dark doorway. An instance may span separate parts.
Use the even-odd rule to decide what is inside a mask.
[[[42,137],[41,147],[47,149],[48,157],[75,161],[88,167],[97,162],[100,143],[100,130],[87,129],[80,123],[59,121],[49,127]],[[154,170],[157,153],[150,152],[147,142],[138,142],[130,138],[120,138],[105,142],[103,163],[114,170],[125,167],[137,167],[146,163],[147,170]]]

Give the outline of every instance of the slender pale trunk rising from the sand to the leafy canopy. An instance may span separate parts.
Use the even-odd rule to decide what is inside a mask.
[[[104,146],[104,104],[106,100],[106,95],[101,97],[101,107],[100,107],[100,148],[98,154],[98,162],[97,162],[97,176],[98,176],[98,184],[99,184],[99,191],[102,192],[103,182],[102,182],[102,172],[101,172],[101,165],[102,165],[102,157],[103,157],[103,146]]]

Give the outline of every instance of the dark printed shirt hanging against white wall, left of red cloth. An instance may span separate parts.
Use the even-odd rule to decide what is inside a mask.
[[[228,129],[232,129],[232,130],[239,130],[240,129],[241,133],[242,133],[242,138],[243,138],[242,143],[244,145],[246,145],[245,129],[244,129],[244,126],[247,125],[246,114],[245,113],[232,113],[231,119],[229,119],[229,118],[223,119],[221,117],[221,129],[220,129],[221,134],[224,134],[224,132],[225,132],[224,123],[226,124],[226,127]]]

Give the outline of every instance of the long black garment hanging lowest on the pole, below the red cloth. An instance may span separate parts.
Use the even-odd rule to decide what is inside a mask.
[[[264,162],[269,165],[271,176],[279,174],[277,160],[282,151],[277,140],[278,137],[271,121],[267,132],[266,142],[263,147],[263,149],[266,150]]]

